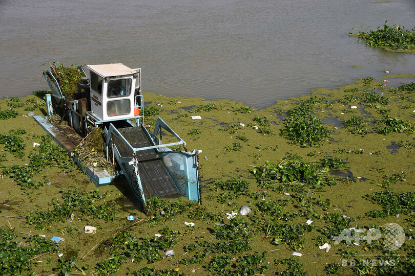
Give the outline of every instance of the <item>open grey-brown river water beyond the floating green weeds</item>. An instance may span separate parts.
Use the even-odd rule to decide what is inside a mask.
[[[263,108],[385,70],[415,73],[415,55],[348,36],[385,20],[412,29],[415,1],[1,0],[0,96],[47,89],[45,62],[122,62],[141,68],[144,92]]]

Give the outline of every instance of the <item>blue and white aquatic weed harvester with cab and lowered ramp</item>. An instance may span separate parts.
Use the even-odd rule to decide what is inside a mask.
[[[52,91],[46,94],[47,118],[34,119],[67,150],[96,186],[108,185],[124,175],[141,202],[153,196],[185,196],[200,203],[198,150],[189,152],[186,143],[161,118],[152,135],[144,126],[140,68],[131,69],[122,63],[74,67],[83,77],[79,78],[77,90],[68,94],[59,86],[56,67],[43,73]],[[81,137],[101,128],[103,152],[115,170],[82,164],[74,153],[74,148],[82,144],[76,145],[48,121],[53,114],[67,121]],[[163,135],[177,142],[163,144]],[[184,151],[169,148],[173,146],[183,146]]]

